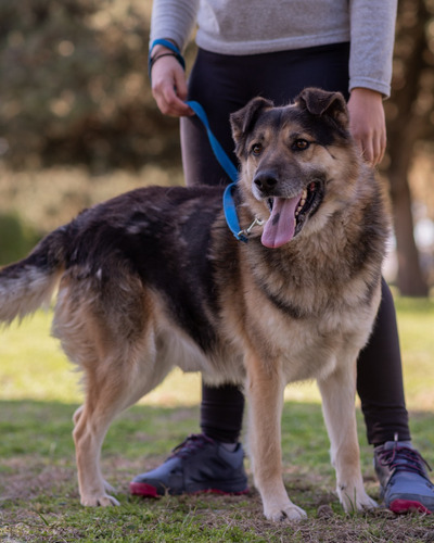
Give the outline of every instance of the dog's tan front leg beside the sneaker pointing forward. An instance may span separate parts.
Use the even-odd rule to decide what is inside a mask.
[[[350,361],[352,357],[346,357],[347,364],[318,381],[331,460],[336,470],[336,492],[346,512],[376,506],[366,493],[361,478],[355,411],[356,363]]]

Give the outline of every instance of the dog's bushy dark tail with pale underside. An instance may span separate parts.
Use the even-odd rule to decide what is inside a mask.
[[[0,323],[48,305],[65,267],[67,227],[43,238],[24,260],[0,268]]]

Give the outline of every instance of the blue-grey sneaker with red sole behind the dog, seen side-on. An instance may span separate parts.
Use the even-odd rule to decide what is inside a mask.
[[[243,459],[241,443],[231,452],[203,433],[192,434],[159,467],[137,476],[129,489],[131,494],[146,497],[197,492],[245,494]]]

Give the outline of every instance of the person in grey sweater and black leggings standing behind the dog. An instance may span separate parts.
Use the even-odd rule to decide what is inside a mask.
[[[202,104],[213,132],[235,161],[229,115],[252,98],[280,105],[306,87],[340,91],[360,153],[379,164],[386,147],[383,100],[391,90],[396,0],[154,0],[152,91],[163,114],[180,117],[187,185],[229,182],[187,99]],[[187,80],[180,52],[195,25],[199,50]],[[396,513],[433,512],[434,487],[411,444],[396,315],[384,280],[373,333],[357,369],[386,506]],[[202,390],[202,433],[187,438],[158,468],[137,476],[132,494],[246,492],[239,443],[244,397],[230,384],[203,384]]]

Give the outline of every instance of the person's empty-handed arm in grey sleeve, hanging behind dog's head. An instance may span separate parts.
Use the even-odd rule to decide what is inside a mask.
[[[385,151],[383,99],[391,93],[396,0],[350,0],[349,128],[365,159]]]

